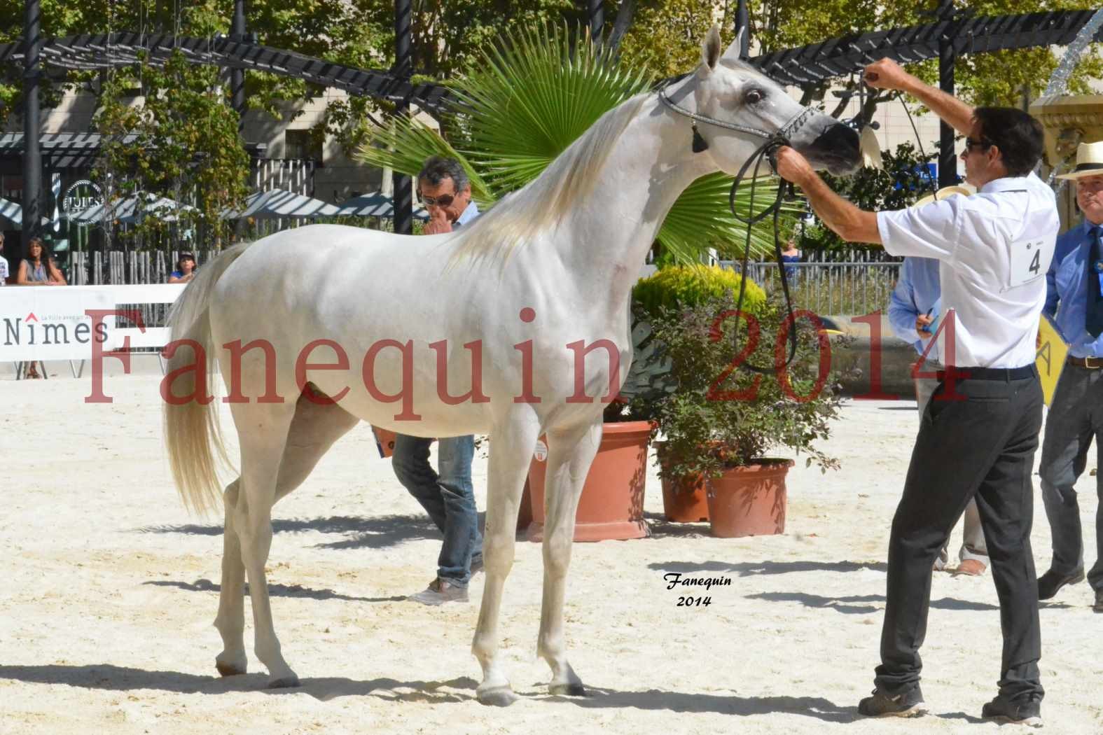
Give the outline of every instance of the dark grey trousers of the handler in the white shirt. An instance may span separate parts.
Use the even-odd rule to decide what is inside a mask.
[[[999,596],[999,692],[1011,700],[1040,700],[1030,473],[1041,429],[1041,386],[1032,371],[1016,380],[959,380],[955,393],[965,400],[946,400],[944,392],[940,386],[923,413],[892,519],[876,685],[891,696],[919,683],[931,564],[975,497]]]

